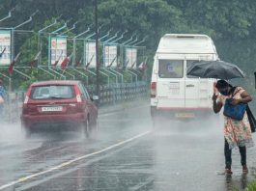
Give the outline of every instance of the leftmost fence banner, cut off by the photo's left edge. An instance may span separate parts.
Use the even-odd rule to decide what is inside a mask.
[[[11,63],[11,31],[0,30],[0,66]]]

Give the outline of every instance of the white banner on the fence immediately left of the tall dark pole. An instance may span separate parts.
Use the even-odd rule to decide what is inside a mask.
[[[86,68],[96,68],[96,42],[85,43],[85,63]]]

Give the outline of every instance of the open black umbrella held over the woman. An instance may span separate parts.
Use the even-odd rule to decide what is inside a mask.
[[[232,79],[243,78],[244,73],[238,66],[224,61],[198,61],[193,62],[186,69],[187,75],[201,78]]]

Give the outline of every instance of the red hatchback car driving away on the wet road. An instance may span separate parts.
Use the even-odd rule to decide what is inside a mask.
[[[98,108],[80,81],[51,80],[30,85],[22,107],[21,125],[27,136],[42,127],[68,126],[82,127],[88,137],[97,128],[97,119]]]

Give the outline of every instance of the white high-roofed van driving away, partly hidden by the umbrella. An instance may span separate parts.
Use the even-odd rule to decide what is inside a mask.
[[[186,75],[194,61],[217,60],[206,35],[166,34],[158,44],[151,80],[151,115],[191,119],[212,113],[213,79]]]

